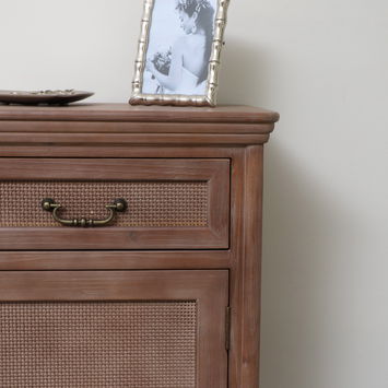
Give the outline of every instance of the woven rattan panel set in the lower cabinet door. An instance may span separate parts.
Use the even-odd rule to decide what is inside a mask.
[[[193,388],[196,302],[0,303],[1,388]]]

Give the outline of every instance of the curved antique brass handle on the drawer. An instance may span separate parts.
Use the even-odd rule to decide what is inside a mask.
[[[125,212],[128,208],[127,201],[122,198],[115,199],[114,203],[105,205],[105,208],[109,211],[109,215],[105,220],[63,220],[58,216],[58,211],[62,205],[60,203],[56,203],[56,201],[51,198],[45,198],[42,201],[42,209],[48,212],[52,212],[52,219],[64,226],[105,226],[109,224],[109,222],[115,217],[116,212]]]

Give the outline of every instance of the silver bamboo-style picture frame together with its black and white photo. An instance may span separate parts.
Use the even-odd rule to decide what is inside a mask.
[[[216,105],[230,0],[144,0],[131,105]]]

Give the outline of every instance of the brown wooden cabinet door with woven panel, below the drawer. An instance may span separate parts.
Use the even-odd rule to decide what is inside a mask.
[[[228,272],[0,272],[1,387],[226,388]]]

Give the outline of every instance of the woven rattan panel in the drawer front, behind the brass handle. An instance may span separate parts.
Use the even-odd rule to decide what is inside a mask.
[[[61,203],[62,217],[104,219],[106,204],[128,201],[116,226],[207,226],[208,184],[131,181],[1,181],[0,226],[58,226],[40,208],[44,198]]]

